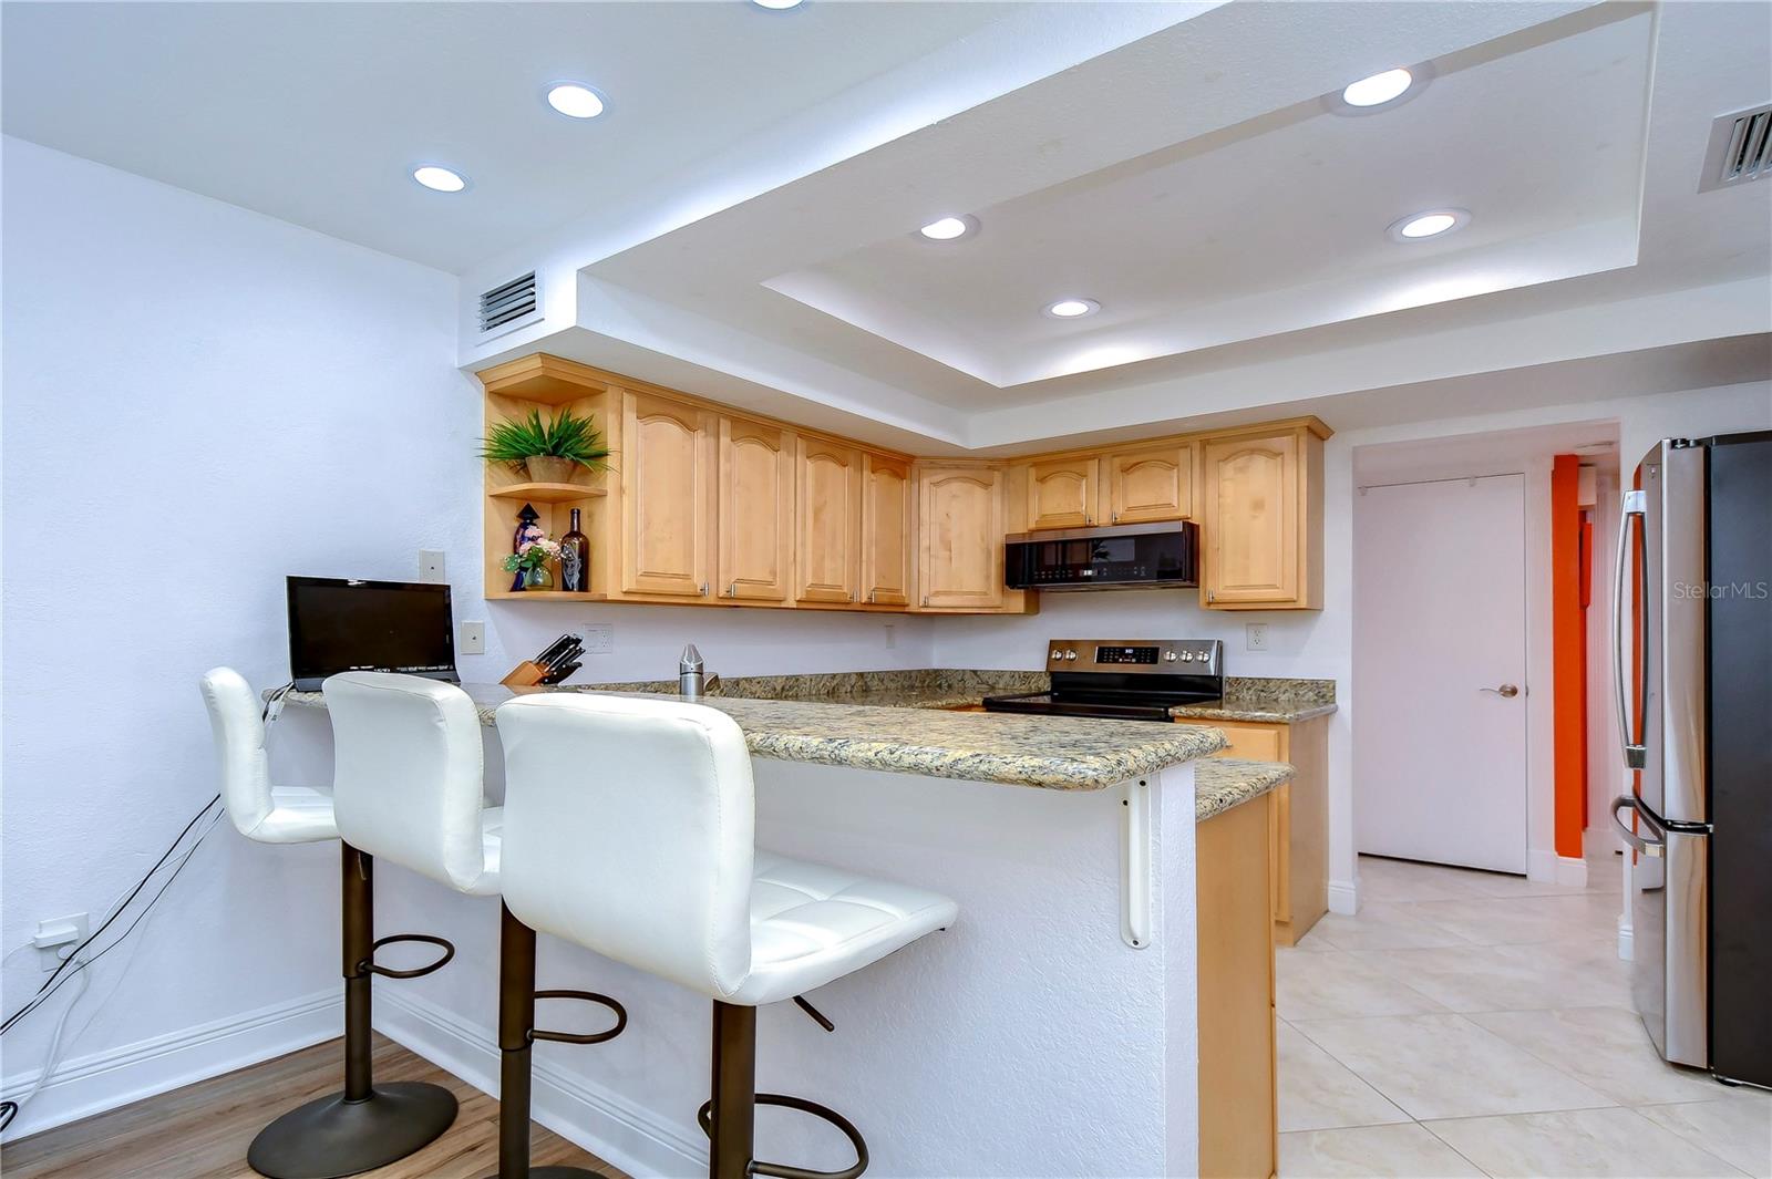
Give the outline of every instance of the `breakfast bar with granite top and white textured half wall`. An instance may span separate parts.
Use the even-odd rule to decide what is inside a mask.
[[[496,802],[493,715],[512,692],[471,694],[487,722]],[[324,699],[285,701],[273,728],[276,779],[330,781]],[[1265,814],[1265,793],[1290,767],[1210,758],[1224,747],[1214,728],[702,703],[734,717],[750,744],[758,848],[959,903],[944,933],[810,995],[835,1034],[792,1004],[762,1009],[760,1089],[815,1094],[854,1121],[870,1174],[1200,1172],[1200,1099],[1214,1082],[1201,1078],[1210,1064],[1196,1009],[1198,938],[1212,924],[1196,912],[1196,827],[1217,830],[1251,800]],[[381,986],[376,1027],[491,1090],[496,903],[397,867],[377,873],[376,887],[379,933],[416,929],[457,945],[448,968]],[[1251,929],[1265,938],[1265,903],[1256,908]],[[542,986],[615,995],[631,1021],[608,1044],[537,1046],[539,1121],[636,1175],[705,1174],[695,1122],[707,1099],[703,1000],[546,936],[540,963]],[[760,1133],[766,1158],[847,1163],[845,1145],[813,1119],[766,1121]]]

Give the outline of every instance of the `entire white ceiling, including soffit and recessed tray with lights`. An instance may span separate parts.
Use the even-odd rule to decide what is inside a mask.
[[[18,4],[5,129],[462,274],[537,349],[1008,453],[1772,372],[1765,4]],[[1409,103],[1320,99],[1432,62]],[[581,78],[578,124],[540,83]],[[473,186],[439,196],[408,165]],[[1435,243],[1382,230],[1473,211]],[[952,248],[909,234],[971,212]],[[546,320],[480,340],[537,269]],[[1061,294],[1104,310],[1060,322]],[[1632,358],[1637,358],[1632,361]],[[1589,363],[1591,361],[1591,363]],[[1508,374],[1503,379],[1503,374]],[[1685,382],[1685,384],[1682,384]],[[1524,398],[1524,400],[1522,400]]]

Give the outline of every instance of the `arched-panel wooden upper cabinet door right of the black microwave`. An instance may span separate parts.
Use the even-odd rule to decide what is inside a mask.
[[[1302,605],[1302,430],[1207,439],[1207,605]]]

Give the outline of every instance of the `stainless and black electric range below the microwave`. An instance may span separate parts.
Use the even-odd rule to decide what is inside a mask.
[[[985,712],[1170,720],[1175,705],[1224,697],[1217,639],[1053,639],[1049,692],[985,696]]]

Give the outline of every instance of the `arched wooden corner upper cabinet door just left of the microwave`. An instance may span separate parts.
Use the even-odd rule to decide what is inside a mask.
[[[918,473],[918,600],[923,609],[1003,607],[1003,469],[932,464]]]

